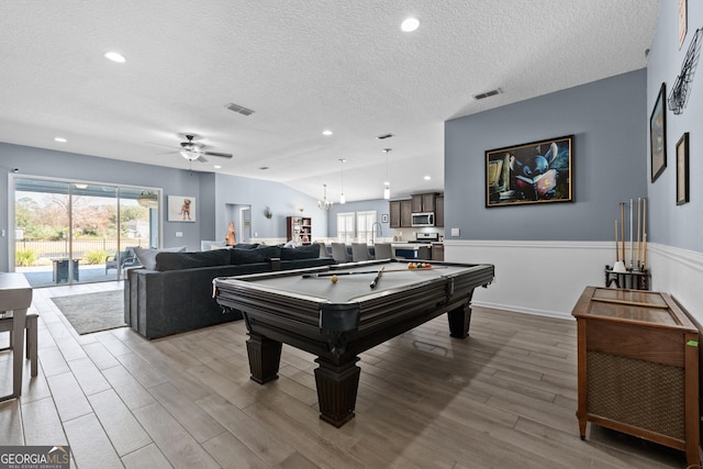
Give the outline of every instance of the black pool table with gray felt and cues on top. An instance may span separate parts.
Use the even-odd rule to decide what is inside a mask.
[[[489,264],[409,264],[386,259],[216,278],[214,294],[244,316],[254,381],[278,378],[282,343],[317,356],[320,417],[341,427],[354,417],[359,354],[445,312],[450,335],[465,338],[473,289],[494,276]]]

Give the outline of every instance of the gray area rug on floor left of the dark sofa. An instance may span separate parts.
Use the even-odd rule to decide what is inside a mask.
[[[80,335],[107,331],[124,323],[124,293],[122,290],[55,297],[52,301],[64,313]]]

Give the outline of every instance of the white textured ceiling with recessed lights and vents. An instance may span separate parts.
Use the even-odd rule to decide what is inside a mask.
[[[381,198],[390,147],[393,196],[442,190],[444,121],[645,67],[658,10],[658,0],[3,0],[0,141],[188,169],[168,152],[194,133],[234,157],[193,170],[317,198],[327,185],[335,201],[339,158],[348,201]],[[420,29],[403,33],[409,15]],[[386,133],[395,136],[376,138]]]

